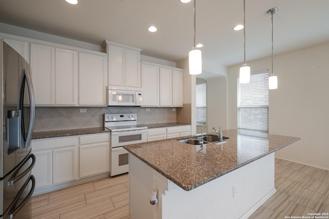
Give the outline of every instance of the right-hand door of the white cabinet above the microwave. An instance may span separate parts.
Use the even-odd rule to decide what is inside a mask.
[[[140,88],[140,84],[140,52],[125,49],[125,86]]]

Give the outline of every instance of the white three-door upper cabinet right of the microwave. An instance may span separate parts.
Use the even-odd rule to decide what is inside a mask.
[[[142,106],[182,107],[183,70],[142,62]]]

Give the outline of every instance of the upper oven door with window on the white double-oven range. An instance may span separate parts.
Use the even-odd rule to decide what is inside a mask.
[[[147,140],[148,140],[147,129],[111,132],[112,148],[147,142]]]

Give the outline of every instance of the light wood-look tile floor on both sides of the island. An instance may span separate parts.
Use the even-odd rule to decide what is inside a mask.
[[[277,192],[249,219],[329,212],[329,171],[278,158],[275,171]],[[33,196],[32,218],[131,219],[128,182],[128,174],[124,174]]]

